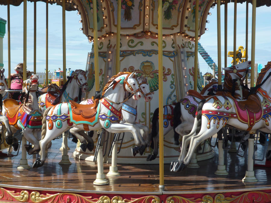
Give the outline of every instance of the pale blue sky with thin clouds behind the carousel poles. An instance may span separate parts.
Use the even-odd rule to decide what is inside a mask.
[[[33,3],[27,2],[27,69],[33,70]],[[233,49],[233,3],[228,4],[228,51]],[[37,72],[45,69],[45,7],[44,2],[37,2]],[[48,69],[62,69],[62,7],[49,4],[49,27],[48,27]],[[237,43],[236,46],[245,47],[245,3],[237,4]],[[249,4],[249,41],[248,52],[251,58],[251,4]],[[32,11],[32,12],[30,12]],[[11,69],[17,63],[23,62],[23,3],[20,6],[10,6],[11,16]],[[201,36],[200,43],[217,63],[217,31],[216,31],[216,7],[210,9],[211,16],[207,17],[210,23],[206,23],[209,29]],[[256,56],[255,62],[263,66],[271,60],[270,30],[271,8],[259,7],[256,9]],[[7,6],[0,5],[0,17],[7,20]],[[91,50],[91,44],[87,37],[79,30],[80,16],[77,11],[66,11],[66,67],[85,69],[87,53]],[[7,27],[7,26],[6,26]],[[221,6],[221,48],[222,67],[224,67],[224,5]],[[8,68],[8,42],[7,33],[4,37],[4,68]],[[199,57],[201,72],[211,72],[207,63]],[[228,58],[227,64],[232,58]]]

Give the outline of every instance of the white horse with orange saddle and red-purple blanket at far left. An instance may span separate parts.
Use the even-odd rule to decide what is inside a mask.
[[[36,91],[38,90],[38,75],[30,76],[23,81],[24,98],[22,104],[16,100],[6,99],[3,102],[3,114],[8,117],[12,133],[22,129],[23,136],[32,145],[26,145],[29,154],[39,151],[39,140],[41,139],[42,114],[38,106]]]

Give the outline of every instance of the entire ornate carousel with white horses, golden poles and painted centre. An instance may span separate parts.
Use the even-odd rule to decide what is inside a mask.
[[[34,11],[28,12],[34,13],[36,21],[36,1],[31,2]],[[22,96],[20,103],[6,99],[1,104],[1,202],[271,201],[271,62],[257,80],[254,70],[256,7],[270,6],[269,1],[44,2],[47,28],[48,5],[62,6],[64,73],[66,11],[78,11],[81,30],[93,48],[86,70],[63,74],[61,88],[46,84],[38,91],[35,57],[34,74],[26,74],[23,1]],[[231,52],[236,60],[230,67],[225,48],[222,75],[221,4],[225,5],[227,47],[227,5],[234,3],[232,50],[238,50],[236,9],[244,2],[246,33],[252,21],[251,55],[247,34],[241,60],[238,51]],[[8,9],[9,50],[10,5],[21,3],[0,0]],[[252,19],[248,18],[249,3]],[[206,54],[198,41],[214,6],[218,79],[202,88],[198,52]],[[35,46],[36,27],[34,53]],[[48,29],[46,69],[48,73]],[[9,75],[10,71],[9,51]],[[2,94],[10,88],[3,72]],[[14,136],[18,132],[21,139]]]

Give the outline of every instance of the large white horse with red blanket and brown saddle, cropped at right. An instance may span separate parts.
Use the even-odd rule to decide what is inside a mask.
[[[189,164],[192,153],[198,143],[213,136],[226,124],[243,131],[255,131],[271,133],[271,62],[268,62],[261,70],[256,87],[251,90],[247,100],[238,101],[232,96],[213,96],[202,100],[198,108],[197,118],[191,133],[185,135],[190,137],[190,146],[185,156],[182,151],[179,163],[174,165],[174,172],[182,170]],[[197,134],[197,127],[200,131]],[[184,145],[183,141],[183,145]]]

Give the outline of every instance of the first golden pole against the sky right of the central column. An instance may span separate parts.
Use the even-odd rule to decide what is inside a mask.
[[[217,71],[218,71],[218,91],[222,91],[221,86],[221,19],[220,19],[220,0],[217,3]]]

